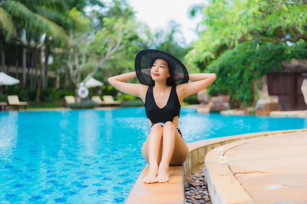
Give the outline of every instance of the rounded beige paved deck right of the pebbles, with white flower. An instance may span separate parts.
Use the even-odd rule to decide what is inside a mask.
[[[208,152],[213,203],[307,203],[307,132],[240,140]],[[226,156],[228,164],[218,159]]]

